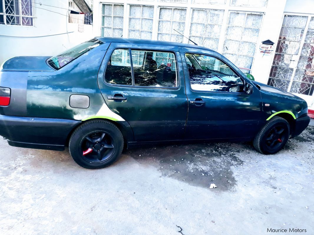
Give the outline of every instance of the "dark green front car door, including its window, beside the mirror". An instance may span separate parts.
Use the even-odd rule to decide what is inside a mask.
[[[188,98],[186,139],[251,138],[257,133],[262,100],[236,66],[214,51],[180,48]],[[249,82],[250,83],[250,82]]]

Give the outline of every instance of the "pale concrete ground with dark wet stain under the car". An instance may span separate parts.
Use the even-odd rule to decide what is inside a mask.
[[[149,146],[87,170],[68,150],[1,139],[0,234],[314,234],[313,140],[309,126],[275,155],[250,143]]]

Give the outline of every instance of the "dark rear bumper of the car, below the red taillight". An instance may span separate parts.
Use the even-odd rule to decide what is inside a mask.
[[[72,130],[81,121],[0,115],[0,135],[8,144],[33,149],[64,150]]]

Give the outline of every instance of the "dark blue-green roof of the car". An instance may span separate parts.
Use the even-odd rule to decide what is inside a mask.
[[[202,49],[202,50],[205,49],[205,50],[214,51],[203,46],[180,43],[180,42],[156,41],[156,40],[135,39],[135,38],[110,38],[110,37],[96,37],[96,39],[102,42],[158,44],[158,45],[163,45],[163,46],[188,47],[188,48],[195,48],[195,49]]]

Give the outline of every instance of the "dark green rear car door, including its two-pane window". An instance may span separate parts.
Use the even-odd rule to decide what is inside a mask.
[[[98,83],[107,106],[132,127],[135,141],[183,138],[187,97],[177,47],[111,43]]]

